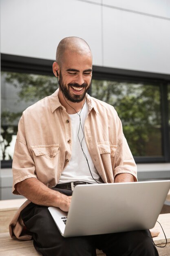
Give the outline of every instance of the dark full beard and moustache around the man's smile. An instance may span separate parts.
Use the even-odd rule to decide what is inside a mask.
[[[88,90],[91,88],[91,83],[88,86],[87,83],[83,83],[82,85],[79,85],[78,83],[68,83],[68,86],[64,85],[63,80],[62,80],[62,73],[60,71],[60,81],[59,83],[59,88],[62,91],[62,93],[64,94],[64,96],[66,97],[66,99],[68,99],[68,101],[74,102],[74,103],[79,103],[81,101],[83,101],[83,99],[85,98],[86,92],[88,92]],[[73,86],[73,87],[77,87],[77,88],[85,88],[84,92],[81,95],[77,95],[77,94],[71,94],[69,91],[69,87]]]

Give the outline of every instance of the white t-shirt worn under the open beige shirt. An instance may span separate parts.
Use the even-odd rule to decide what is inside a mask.
[[[97,183],[95,180],[99,182],[99,179],[100,179],[99,173],[97,172],[93,164],[93,161],[91,159],[91,156],[88,153],[88,148],[86,146],[86,141],[83,134],[84,122],[88,115],[87,103],[84,104],[82,111],[78,112],[78,114],[80,115],[80,118],[81,118],[82,127],[80,126],[80,118],[79,118],[79,115],[77,115],[77,113],[73,115],[69,115],[71,118],[71,130],[72,130],[72,155],[68,165],[62,172],[62,175],[60,177],[58,184],[75,182],[75,181]],[[80,143],[82,144],[83,151],[88,159],[88,164],[90,166],[91,173],[95,180],[93,180],[93,177],[91,176],[91,173],[88,168],[88,164],[87,164],[86,158],[84,157]]]

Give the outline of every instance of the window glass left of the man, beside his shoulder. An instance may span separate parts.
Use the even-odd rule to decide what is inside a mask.
[[[13,159],[18,121],[30,105],[57,89],[54,76],[1,72],[0,160]]]

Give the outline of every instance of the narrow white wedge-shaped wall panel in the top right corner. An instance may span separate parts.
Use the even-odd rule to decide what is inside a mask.
[[[170,18],[170,0],[103,0],[103,4]]]

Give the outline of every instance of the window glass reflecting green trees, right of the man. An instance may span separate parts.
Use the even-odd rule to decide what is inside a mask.
[[[159,85],[93,80],[91,94],[114,106],[133,156],[162,156]]]

